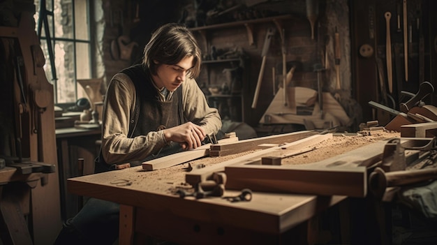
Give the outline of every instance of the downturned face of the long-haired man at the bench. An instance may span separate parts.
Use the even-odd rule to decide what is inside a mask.
[[[165,87],[168,91],[175,91],[184,82],[187,73],[193,68],[193,56],[187,56],[174,65],[158,64],[153,80],[156,87]]]

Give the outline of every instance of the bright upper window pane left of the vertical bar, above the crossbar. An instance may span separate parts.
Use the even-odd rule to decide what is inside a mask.
[[[73,38],[73,3],[71,0],[54,1],[54,35]]]

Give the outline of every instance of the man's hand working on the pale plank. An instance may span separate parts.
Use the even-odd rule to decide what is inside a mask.
[[[182,149],[195,149],[202,145],[206,133],[200,126],[188,121],[185,124],[173,128],[164,129],[164,137],[167,141],[179,142]]]

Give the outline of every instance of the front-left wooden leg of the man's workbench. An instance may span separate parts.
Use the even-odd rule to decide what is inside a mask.
[[[119,244],[133,244],[135,234],[135,208],[120,205]]]

